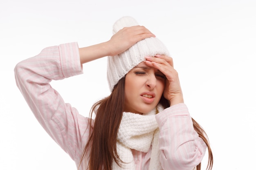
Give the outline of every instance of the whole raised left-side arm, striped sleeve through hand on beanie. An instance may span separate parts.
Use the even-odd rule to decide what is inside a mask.
[[[52,79],[82,74],[83,63],[121,53],[150,36],[153,34],[143,26],[133,26],[122,29],[108,42],[80,49],[77,43],[52,46],[16,65],[16,84],[27,104],[41,126],[72,159],[80,159],[90,135],[88,118],[66,104],[49,83]]]

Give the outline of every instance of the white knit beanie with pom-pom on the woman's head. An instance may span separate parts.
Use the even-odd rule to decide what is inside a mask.
[[[113,34],[124,27],[139,25],[132,17],[123,17],[113,25]],[[108,56],[107,79],[110,91],[133,67],[146,60],[146,56],[169,55],[164,44],[157,38],[150,37],[141,40],[129,49],[115,56]]]

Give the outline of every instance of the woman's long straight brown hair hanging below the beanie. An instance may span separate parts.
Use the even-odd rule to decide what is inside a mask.
[[[81,166],[86,153],[89,154],[89,152],[89,170],[111,170],[113,160],[119,166],[120,163],[124,163],[119,158],[116,148],[117,132],[121,123],[122,113],[124,111],[124,84],[125,77],[119,80],[109,97],[101,99],[92,106],[89,123],[92,123],[92,113],[95,112],[96,117],[94,127],[89,141],[83,150],[79,167]],[[168,100],[163,96],[159,103],[162,104],[164,108],[168,108],[170,106]],[[195,131],[208,147],[209,158],[207,169],[211,170],[213,166],[213,155],[208,137],[202,127],[193,118],[192,121]],[[200,169],[201,163],[194,168],[194,170]]]

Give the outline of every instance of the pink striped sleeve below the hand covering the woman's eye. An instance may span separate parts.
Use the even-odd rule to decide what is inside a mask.
[[[206,144],[193,128],[185,104],[176,104],[156,115],[160,129],[160,162],[164,170],[192,170],[203,159]]]

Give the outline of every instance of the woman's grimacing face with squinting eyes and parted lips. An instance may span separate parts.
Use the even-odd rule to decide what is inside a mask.
[[[164,91],[165,75],[156,68],[141,62],[126,74],[125,112],[148,113],[161,99]]]

